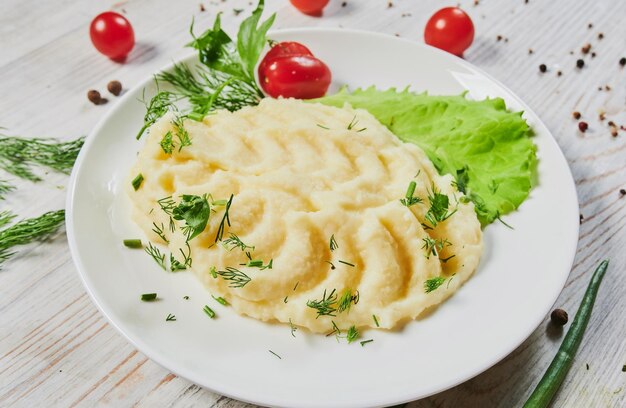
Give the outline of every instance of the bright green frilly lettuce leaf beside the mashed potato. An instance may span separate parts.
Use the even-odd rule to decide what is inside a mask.
[[[398,138],[421,147],[440,174],[455,177],[483,226],[514,211],[532,188],[532,130],[522,112],[508,111],[501,98],[472,101],[371,87],[314,102],[365,109]]]

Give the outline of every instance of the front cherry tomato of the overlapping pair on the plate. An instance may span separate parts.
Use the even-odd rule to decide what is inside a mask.
[[[326,64],[311,55],[289,55],[271,61],[259,78],[273,98],[312,99],[326,94],[331,74]]]

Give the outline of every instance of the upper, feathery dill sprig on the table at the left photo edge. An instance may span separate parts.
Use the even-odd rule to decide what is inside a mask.
[[[0,169],[30,181],[41,181],[41,177],[32,170],[35,164],[69,174],[84,142],[84,137],[59,142],[0,134]]]

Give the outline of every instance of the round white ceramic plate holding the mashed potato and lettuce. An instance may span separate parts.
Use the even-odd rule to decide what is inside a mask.
[[[550,132],[506,87],[462,59],[391,36],[348,30],[283,30],[275,40],[306,44],[333,73],[331,91],[411,86],[431,94],[468,91],[523,110],[538,147],[537,186],[520,209],[484,230],[476,274],[434,313],[401,331],[367,331],[375,341],[338,343],[286,325],[241,317],[215,303],[191,273],[166,273],[140,250],[124,183],[141,148],[135,140],[154,92],[152,76],[95,127],[76,162],[67,202],[72,256],[93,301],[132,344],[175,374],[219,394],[280,407],[374,407],[455,386],[518,347],[552,307],[578,239],[578,201]],[[372,58],[376,55],[376,58]],[[185,62],[195,63],[195,56]],[[556,243],[556,244],[555,244]],[[157,292],[160,301],[141,302]],[[184,300],[183,296],[189,296]],[[214,305],[217,319],[203,313]],[[165,322],[168,313],[175,322]],[[281,359],[271,354],[272,350]]]

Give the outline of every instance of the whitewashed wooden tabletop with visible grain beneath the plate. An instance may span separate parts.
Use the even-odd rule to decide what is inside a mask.
[[[331,0],[323,18],[299,14],[286,0],[269,0],[268,8],[279,12],[275,28],[339,26],[422,41],[428,16],[442,6],[426,0],[341,3]],[[466,59],[509,86],[539,114],[576,180],[584,219],[574,266],[557,306],[572,315],[598,261],[611,259],[583,345],[554,406],[624,406],[626,197],[619,190],[626,188],[626,131],[612,137],[607,122],[626,125],[626,69],[618,63],[626,57],[626,2],[474,3],[478,1],[461,2],[477,32]],[[183,44],[189,40],[192,16],[200,29],[223,11],[223,24],[232,32],[251,9],[247,0],[203,4],[204,12],[198,0],[3,0],[3,132],[61,139],[87,134],[115,105],[114,97],[107,105],[92,105],[88,89],[104,91],[112,79],[132,87],[187,53]],[[138,43],[125,64],[102,57],[89,41],[90,20],[109,7],[125,13],[135,28]],[[245,12],[235,16],[233,9],[238,8]],[[583,56],[585,43],[592,47]],[[585,61],[582,69],[576,68],[579,58]],[[540,64],[546,64],[546,73],[539,72]],[[588,122],[586,133],[577,130],[573,111]],[[0,208],[22,216],[63,208],[66,183],[67,177],[55,173],[38,184],[18,183],[19,190]],[[562,336],[549,336],[547,322],[495,367],[410,406],[519,406],[560,344]],[[128,344],[85,293],[64,235],[22,248],[0,271],[0,406],[135,405],[246,406],[170,374]]]

